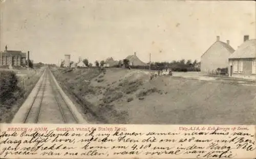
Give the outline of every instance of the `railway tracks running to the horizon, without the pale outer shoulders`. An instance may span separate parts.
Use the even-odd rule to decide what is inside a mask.
[[[48,120],[45,119],[49,118],[57,123],[78,123],[78,119],[60,94],[49,71],[47,69],[42,75],[41,83],[23,123],[42,123],[47,122]]]

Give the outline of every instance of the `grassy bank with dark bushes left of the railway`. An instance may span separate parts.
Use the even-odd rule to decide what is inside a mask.
[[[13,72],[15,76],[11,77],[11,71],[9,69],[0,69],[0,86],[2,88],[1,93],[3,93],[2,91],[6,87],[14,87],[12,85],[8,86],[10,81],[17,80],[17,87],[11,89],[11,95],[2,94],[1,96],[0,122],[8,123],[11,121],[15,113],[18,111],[20,105],[22,105],[41,75],[41,70],[39,69],[13,70]]]

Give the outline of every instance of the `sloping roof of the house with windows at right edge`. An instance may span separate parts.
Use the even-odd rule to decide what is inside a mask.
[[[229,59],[256,58],[256,39],[245,41],[238,47]]]

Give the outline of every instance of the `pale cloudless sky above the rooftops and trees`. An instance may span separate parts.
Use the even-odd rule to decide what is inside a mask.
[[[191,59],[216,36],[237,49],[256,36],[253,1],[6,0],[1,2],[0,50],[30,51],[34,62],[71,55],[89,62],[134,52],[144,62]]]

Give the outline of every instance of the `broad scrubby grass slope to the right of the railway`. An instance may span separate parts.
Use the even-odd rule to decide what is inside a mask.
[[[256,89],[252,86],[179,76],[150,80],[149,72],[139,70],[52,71],[62,87],[80,101],[91,123],[256,123]]]

